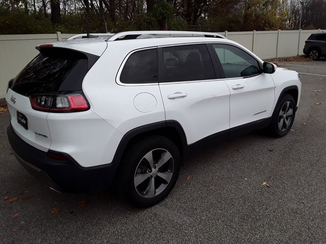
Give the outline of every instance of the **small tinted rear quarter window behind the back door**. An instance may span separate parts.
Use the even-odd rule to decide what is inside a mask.
[[[157,82],[156,48],[132,53],[122,69],[120,81],[128,84]]]

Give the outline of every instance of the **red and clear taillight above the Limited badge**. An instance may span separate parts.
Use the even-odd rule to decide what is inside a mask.
[[[81,94],[50,95],[37,94],[30,97],[32,108],[44,112],[79,112],[90,108]]]

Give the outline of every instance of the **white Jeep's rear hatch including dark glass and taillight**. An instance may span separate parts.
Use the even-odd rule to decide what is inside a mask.
[[[100,47],[102,53],[106,45]],[[53,44],[41,45],[38,49],[40,53],[14,79],[6,100],[11,125],[17,135],[30,145],[47,151],[51,145],[48,113],[89,109],[82,83],[99,56],[53,47]],[[84,104],[80,104],[80,98],[85,98]]]

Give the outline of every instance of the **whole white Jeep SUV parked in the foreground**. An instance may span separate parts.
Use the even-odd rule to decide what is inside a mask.
[[[9,82],[10,144],[52,189],[104,190],[115,178],[123,196],[147,207],[170,193],[195,148],[290,130],[301,95],[295,71],[215,33],[105,35],[40,45]]]

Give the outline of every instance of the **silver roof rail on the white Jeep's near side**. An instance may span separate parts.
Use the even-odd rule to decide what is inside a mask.
[[[105,41],[120,41],[120,40],[130,40],[136,39],[142,35],[157,36],[157,37],[214,37],[223,38],[224,36],[213,33],[213,32],[181,32],[181,31],[135,31],[135,32],[120,32],[117,33]]]

